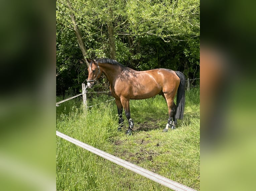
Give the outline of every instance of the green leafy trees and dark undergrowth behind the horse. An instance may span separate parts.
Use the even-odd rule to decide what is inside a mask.
[[[112,21],[116,60],[135,70],[169,68],[199,77],[199,0],[73,0],[88,57],[110,58]],[[109,10],[112,14],[109,14]],[[86,66],[66,0],[56,1],[57,94],[81,92]]]

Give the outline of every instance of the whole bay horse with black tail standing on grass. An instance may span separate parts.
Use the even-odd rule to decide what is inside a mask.
[[[167,102],[169,119],[163,132],[176,128],[177,119],[183,118],[185,106],[185,76],[178,71],[169,69],[154,69],[148,71],[135,71],[125,67],[115,60],[98,59],[87,60],[89,63],[87,87],[93,88],[103,73],[110,82],[110,91],[115,97],[119,116],[119,127],[123,127],[123,108],[129,127],[127,135],[132,135],[134,121],[130,113],[130,99],[146,99],[155,95],[162,95]],[[174,96],[177,101],[174,104]]]

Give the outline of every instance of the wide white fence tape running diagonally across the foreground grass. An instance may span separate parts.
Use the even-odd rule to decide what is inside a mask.
[[[108,159],[108,160],[110,160],[110,161],[112,161],[112,162],[114,162],[114,163],[116,163],[116,164],[118,164],[120,166],[123,166],[123,167],[125,167],[125,168],[127,168],[129,170],[132,170],[133,172],[136,172],[136,173],[138,173],[138,174],[140,174],[142,176],[145,176],[145,177],[147,177],[147,178],[149,178],[149,179],[151,179],[151,180],[153,180],[155,182],[158,182],[158,183],[160,183],[160,184],[162,184],[162,185],[164,185],[164,186],[166,186],[168,188],[171,188],[171,189],[173,189],[175,191],[195,191],[192,188],[189,188],[189,187],[184,186],[182,184],[179,184],[179,183],[177,183],[175,181],[172,181],[172,180],[170,180],[168,178],[165,178],[165,177],[160,176],[160,175],[158,175],[156,173],[153,173],[153,172],[151,172],[149,170],[146,170],[146,169],[144,169],[142,167],[139,167],[139,166],[137,166],[135,164],[127,162],[127,161],[125,161],[123,159],[120,159],[120,158],[118,158],[116,156],[113,156],[113,155],[111,155],[109,153],[106,153],[106,152],[104,152],[104,151],[102,151],[100,149],[97,149],[97,148],[92,147],[92,146],[90,146],[88,144],[85,144],[85,143],[83,143],[83,142],[81,142],[81,141],[79,141],[77,139],[74,139],[74,138],[72,138],[72,137],[70,137],[68,135],[60,133],[59,131],[56,131],[56,135],[61,137],[61,138],[63,138],[63,139],[65,139],[65,140],[67,140],[67,141],[69,141],[69,142],[72,142],[75,145],[78,145],[78,146],[80,146],[80,147],[82,147],[82,148],[84,148],[84,149],[86,149],[86,150],[88,150],[88,151],[90,151],[90,152],[92,152],[94,154],[97,154],[97,155],[99,155],[99,156],[101,156],[101,157],[103,157],[105,159]]]

